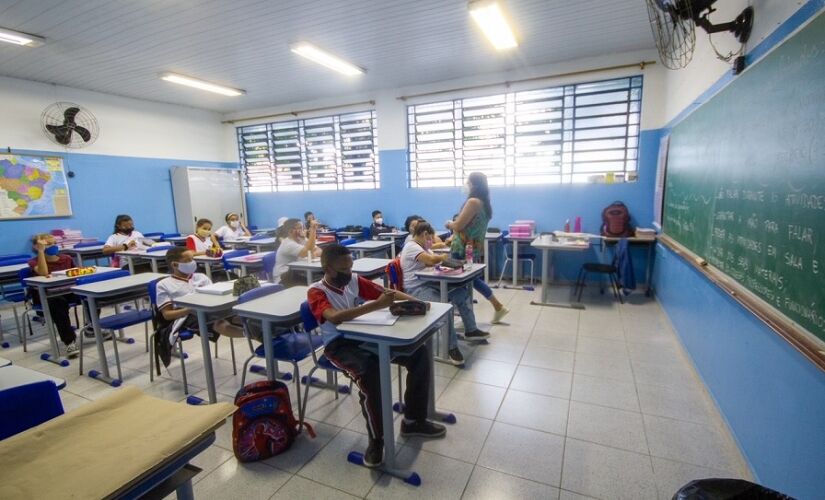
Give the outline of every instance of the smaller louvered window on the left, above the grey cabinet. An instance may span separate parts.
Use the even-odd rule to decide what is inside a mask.
[[[249,192],[377,189],[375,111],[238,127]]]

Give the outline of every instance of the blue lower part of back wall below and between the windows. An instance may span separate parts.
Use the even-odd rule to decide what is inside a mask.
[[[542,231],[564,227],[564,221],[579,215],[582,229],[598,232],[601,211],[615,200],[624,201],[639,225],[650,227],[653,220],[653,188],[659,150],[659,130],[643,131],[639,145],[639,181],[622,184],[573,184],[520,187],[493,187],[493,219],[490,225],[506,229],[517,219],[534,219]],[[380,151],[381,188],[369,191],[250,193],[247,210],[252,224],[272,227],[282,216],[302,218],[312,210],[325,224],[369,225],[371,212],[384,213],[394,225],[402,225],[413,213],[424,216],[436,227],[458,212],[464,200],[460,188],[413,189],[407,180],[406,150]],[[501,254],[501,252],[499,252]],[[573,279],[581,263],[593,255],[566,254],[556,264],[557,278]],[[637,274],[644,276],[644,252],[639,254]],[[498,268],[498,267],[497,267]],[[540,274],[536,268],[536,276]]]

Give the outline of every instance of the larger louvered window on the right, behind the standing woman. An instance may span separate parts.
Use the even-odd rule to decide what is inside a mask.
[[[407,107],[410,186],[636,179],[642,77]]]

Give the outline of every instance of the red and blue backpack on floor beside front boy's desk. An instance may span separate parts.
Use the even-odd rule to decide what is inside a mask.
[[[292,414],[289,389],[283,382],[264,380],[247,384],[235,396],[232,449],[239,462],[254,462],[285,452],[300,432]],[[304,422],[315,437],[312,426]]]

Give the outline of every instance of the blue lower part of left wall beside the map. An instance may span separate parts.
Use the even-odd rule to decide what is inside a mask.
[[[71,217],[0,221],[0,254],[28,253],[30,238],[52,229],[80,229],[84,236],[106,239],[117,214],[126,213],[141,232],[176,232],[169,168],[173,166],[237,167],[234,163],[133,158],[48,151],[21,154],[63,156],[72,200]]]

